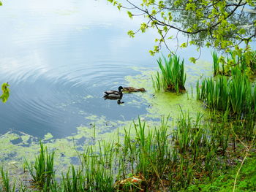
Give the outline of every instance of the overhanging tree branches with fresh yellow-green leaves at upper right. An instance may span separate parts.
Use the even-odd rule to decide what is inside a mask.
[[[176,53],[168,41],[176,39],[178,44],[179,32],[187,36],[187,41],[178,47],[195,45],[198,50],[213,47],[226,52],[241,43],[249,49],[249,42],[256,37],[256,1],[252,0],[141,0],[140,4],[135,0],[108,1],[119,10],[126,9],[129,18],[145,18],[146,22],[137,31],[128,31],[130,37],[145,33],[148,28],[157,30],[159,37],[155,39],[157,45],[149,51],[151,55],[158,53],[162,45],[170,53]]]

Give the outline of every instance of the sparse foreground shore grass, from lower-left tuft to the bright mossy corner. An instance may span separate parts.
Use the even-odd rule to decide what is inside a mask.
[[[238,163],[236,156],[244,153],[237,136],[247,126],[230,122],[229,113],[214,112],[208,120],[200,113],[191,118],[188,112],[181,111],[176,126],[170,126],[170,117],[166,117],[155,128],[148,128],[139,118],[125,129],[123,139],[118,136],[115,142],[100,141],[85,146],[83,153],[78,153],[80,165],[71,165],[57,179],[54,152],[48,153],[40,143],[35,163],[31,166],[26,163],[27,168],[37,190],[45,192],[186,191],[199,185],[203,188],[216,182],[220,174],[226,174]],[[255,120],[251,123],[255,135]],[[251,142],[240,139],[245,145]],[[238,177],[238,185],[242,180]],[[8,182],[0,188],[10,186]],[[23,191],[29,191],[27,187]],[[251,184],[246,188],[253,189]]]

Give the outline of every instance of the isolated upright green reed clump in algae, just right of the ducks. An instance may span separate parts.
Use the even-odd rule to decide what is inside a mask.
[[[164,91],[173,91],[182,93],[186,91],[186,73],[184,72],[184,60],[180,60],[177,55],[172,55],[170,58],[159,58],[157,60],[161,74],[157,72],[156,77],[152,77],[155,90],[161,88]]]

